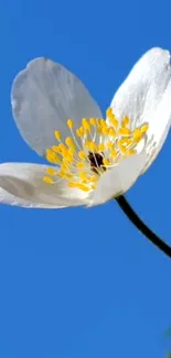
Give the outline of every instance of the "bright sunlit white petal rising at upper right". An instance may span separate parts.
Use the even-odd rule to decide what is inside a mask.
[[[114,96],[111,107],[119,120],[130,117],[132,129],[149,123],[143,172],[159,153],[171,124],[170,53],[148,51]]]

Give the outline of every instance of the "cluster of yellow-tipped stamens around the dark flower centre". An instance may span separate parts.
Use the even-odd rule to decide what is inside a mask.
[[[99,175],[121,160],[136,154],[136,147],[145,137],[148,124],[130,130],[130,119],[125,116],[119,122],[113,109],[106,111],[108,121],[83,118],[82,126],[74,129],[67,120],[71,137],[62,139],[55,131],[57,145],[46,150],[46,159],[60,169],[49,167],[44,182],[54,184],[65,180],[70,187],[89,192],[96,188]]]

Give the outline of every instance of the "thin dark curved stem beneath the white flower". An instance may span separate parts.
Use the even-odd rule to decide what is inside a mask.
[[[118,205],[132,224],[140,230],[159,250],[163,251],[169,258],[171,258],[171,247],[162,241],[148,226],[139,218],[139,216],[131,208],[126,197],[120,195],[116,198]]]

